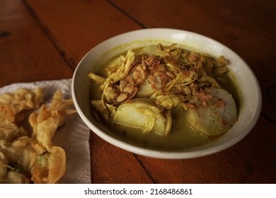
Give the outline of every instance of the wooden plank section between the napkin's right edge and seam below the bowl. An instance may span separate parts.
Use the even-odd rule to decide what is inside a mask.
[[[91,161],[93,183],[153,182],[132,153],[107,143],[96,134],[91,136]]]

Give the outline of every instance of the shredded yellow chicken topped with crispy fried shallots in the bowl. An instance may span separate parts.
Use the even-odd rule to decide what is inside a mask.
[[[153,49],[156,49],[155,53]],[[115,59],[105,69],[108,78],[88,74],[91,80],[102,83],[101,103],[92,101],[92,104],[105,120],[112,119],[122,103],[141,98],[141,95],[154,100],[165,110],[173,107],[195,109],[197,105],[191,102],[194,97],[206,107],[206,100],[210,98],[203,90],[220,88],[216,79],[227,71],[226,64],[229,64],[224,57],[214,59],[209,54],[190,52],[176,45],[159,44],[155,48],[149,47],[149,51],[137,54],[129,50],[125,56]]]

